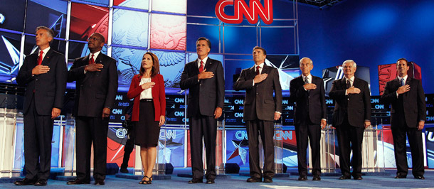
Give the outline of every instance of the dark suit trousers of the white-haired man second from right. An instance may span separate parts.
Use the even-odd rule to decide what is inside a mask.
[[[349,176],[350,153],[353,151],[351,165],[353,177],[361,177],[361,143],[363,141],[364,128],[351,126],[348,123],[348,116],[345,114],[344,122],[336,129],[337,141],[339,144],[339,162],[342,175]]]

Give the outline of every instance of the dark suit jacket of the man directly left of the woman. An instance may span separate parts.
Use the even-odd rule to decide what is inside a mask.
[[[116,60],[100,53],[95,63],[104,65],[100,72],[86,72],[89,55],[76,58],[68,72],[68,82],[75,82],[73,116],[101,117],[102,109],[112,109],[117,93]]]

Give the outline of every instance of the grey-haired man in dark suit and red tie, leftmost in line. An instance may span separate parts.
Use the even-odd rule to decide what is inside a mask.
[[[54,33],[36,28],[38,50],[26,57],[16,82],[26,86],[24,100],[24,158],[26,178],[16,185],[47,185],[51,168],[53,119],[63,107],[66,89],[65,55],[50,48]]]

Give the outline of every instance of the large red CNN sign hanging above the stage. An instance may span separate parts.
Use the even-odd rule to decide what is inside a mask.
[[[225,13],[226,6],[233,6],[233,16]],[[217,18],[224,23],[241,23],[243,15],[252,24],[258,23],[258,16],[264,23],[272,23],[272,0],[264,0],[264,6],[260,0],[250,0],[250,6],[244,0],[219,0],[215,11]]]

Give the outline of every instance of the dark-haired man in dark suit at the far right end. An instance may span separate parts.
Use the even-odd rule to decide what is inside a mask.
[[[397,168],[395,178],[407,177],[407,134],[411,148],[413,176],[416,179],[425,179],[423,177],[425,171],[422,144],[422,129],[425,125],[426,112],[425,93],[420,80],[408,77],[409,68],[405,58],[396,62],[398,77],[386,83],[381,100],[391,103],[391,129]]]

